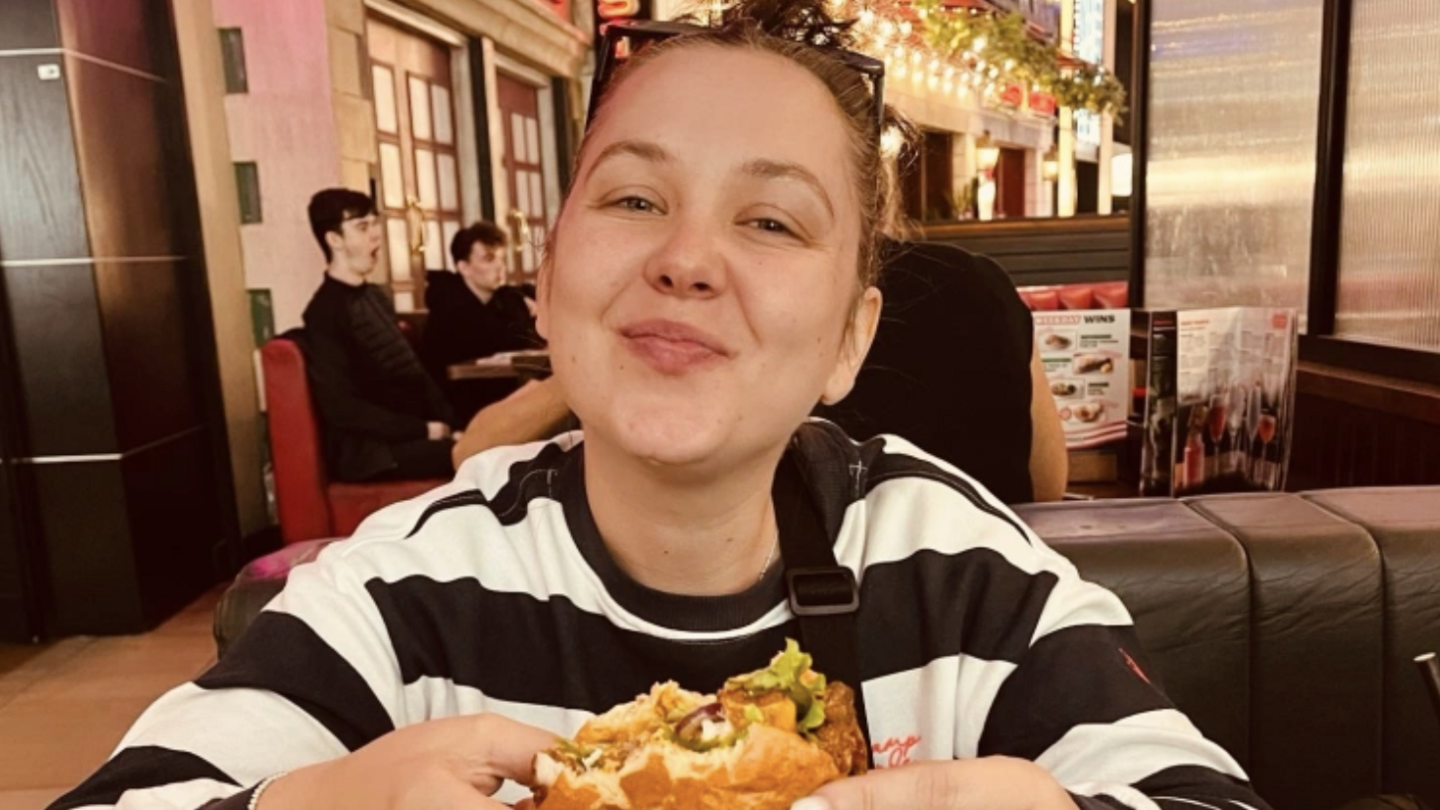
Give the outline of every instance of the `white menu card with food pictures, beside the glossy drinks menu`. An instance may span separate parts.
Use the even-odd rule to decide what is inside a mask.
[[[1034,313],[1035,347],[1066,447],[1125,438],[1130,396],[1130,310]]]

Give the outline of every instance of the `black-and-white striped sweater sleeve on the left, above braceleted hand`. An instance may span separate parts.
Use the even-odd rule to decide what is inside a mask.
[[[135,721],[50,810],[243,807],[265,777],[334,760],[406,722],[397,666],[340,546],[291,572],[226,657]]]

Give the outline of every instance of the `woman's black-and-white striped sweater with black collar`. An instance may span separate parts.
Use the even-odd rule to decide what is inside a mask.
[[[459,713],[570,735],[657,680],[713,690],[798,637],[779,568],[732,597],[625,577],[586,506],[580,447],[570,434],[485,453],[370,517],[53,807],[243,807],[271,774]],[[782,532],[799,510],[779,499],[798,487],[861,582],[877,765],[1004,754],[1045,767],[1083,810],[1266,807],[1149,682],[1119,600],[953,468],[816,421],[778,476]]]

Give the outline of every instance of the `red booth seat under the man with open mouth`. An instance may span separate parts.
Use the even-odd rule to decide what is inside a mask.
[[[305,355],[288,337],[261,347],[275,507],[287,543],[354,533],[370,513],[429,491],[445,481],[331,483],[320,444],[320,424],[305,378]]]

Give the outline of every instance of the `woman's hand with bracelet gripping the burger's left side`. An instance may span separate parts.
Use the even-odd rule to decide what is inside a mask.
[[[553,744],[554,734],[498,715],[422,722],[275,780],[258,809],[500,809],[490,794],[504,780],[530,784],[534,755]]]

